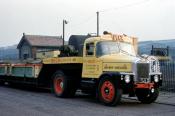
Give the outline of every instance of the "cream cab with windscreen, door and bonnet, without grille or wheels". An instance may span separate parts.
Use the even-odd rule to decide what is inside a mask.
[[[82,77],[99,78],[108,71],[131,72],[132,60],[137,55],[131,40],[118,41],[112,36],[93,37],[85,41]]]

